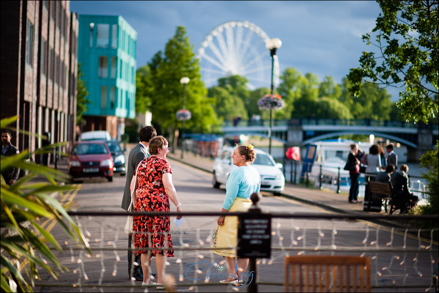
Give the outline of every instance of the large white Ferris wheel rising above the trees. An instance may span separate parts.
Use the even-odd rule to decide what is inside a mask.
[[[211,30],[197,50],[206,87],[215,86],[218,79],[231,75],[245,77],[249,89],[270,87],[272,64],[265,46],[269,41],[261,28],[248,21],[229,21]],[[273,85],[279,85],[277,55],[274,56]]]

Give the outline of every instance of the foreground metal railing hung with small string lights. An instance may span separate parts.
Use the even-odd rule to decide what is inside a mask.
[[[57,282],[37,283],[39,287],[80,287],[85,288],[118,288],[132,290],[140,288],[139,283],[131,281],[121,286],[120,256],[126,255],[126,242],[118,239],[127,237],[123,227],[108,224],[108,217],[133,215],[183,215],[184,225],[180,230],[171,230],[175,258],[168,259],[172,265],[166,267],[177,280],[179,288],[209,292],[209,286],[224,286],[219,283],[219,276],[225,278],[225,264],[222,257],[210,249],[213,232],[219,215],[248,216],[248,212],[111,212],[111,211],[70,211],[70,216],[76,217],[78,226],[84,235],[90,238],[90,247],[94,255],[86,255],[74,245],[64,245],[67,252],[63,256],[70,259],[70,272],[78,275],[75,284],[68,284],[59,277]],[[433,284],[433,266],[438,262],[437,229],[412,229],[404,227],[388,228],[371,224],[376,220],[388,220],[408,223],[410,221],[437,220],[436,216],[398,216],[370,214],[328,214],[328,213],[266,213],[257,212],[270,219],[268,235],[270,237],[270,256],[254,259],[254,267],[250,266],[244,279],[248,292],[258,292],[258,285],[273,286],[274,291],[282,290],[283,280],[277,276],[270,281],[271,270],[284,270],[283,258],[286,255],[356,255],[372,259],[372,289],[375,292],[383,290],[409,290],[429,292]],[[407,222],[406,222],[407,221]],[[241,221],[242,223],[243,221]],[[92,234],[95,230],[96,235]],[[264,231],[263,233],[266,233]],[[258,235],[259,232],[255,232]],[[122,235],[122,236],[121,236]],[[242,235],[242,233],[241,233]],[[259,234],[260,236],[260,234]],[[259,237],[262,239],[263,237]],[[240,243],[241,239],[238,239]],[[246,246],[247,251],[254,247]],[[239,245],[229,249],[239,250]],[[136,250],[136,249],[132,249]],[[125,251],[125,252],[123,252]],[[123,252],[123,253],[122,253]],[[96,258],[101,262],[100,270],[90,270],[88,266],[96,266]],[[67,261],[66,261],[67,262]],[[251,262],[250,262],[251,264]],[[113,268],[113,271],[107,268]],[[99,273],[98,273],[99,272]],[[210,273],[207,273],[210,272]],[[111,275],[111,277],[109,277]],[[282,275],[282,274],[280,274]],[[251,277],[250,277],[251,276]],[[267,277],[268,276],[268,277]],[[108,284],[108,279],[115,283]],[[106,280],[103,282],[103,280]],[[107,284],[103,284],[107,283]],[[128,283],[128,281],[127,281]],[[201,287],[202,286],[202,287]],[[206,287],[207,286],[207,287]],[[200,288],[202,289],[200,289]],[[270,287],[271,288],[271,287]],[[244,289],[243,289],[244,290]],[[122,291],[120,291],[122,292]],[[215,289],[210,292],[218,292]]]

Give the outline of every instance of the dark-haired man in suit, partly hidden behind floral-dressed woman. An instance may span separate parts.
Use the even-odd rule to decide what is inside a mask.
[[[157,131],[153,126],[145,126],[140,129],[140,142],[133,149],[131,149],[128,155],[128,162],[126,166],[126,182],[125,190],[123,191],[122,205],[121,208],[128,210],[131,203],[131,191],[130,183],[131,179],[136,172],[136,168],[139,163],[149,157],[148,146],[149,140],[157,136]],[[133,209],[132,209],[133,210]],[[143,281],[142,267],[140,262],[140,256],[135,256],[134,261],[139,265],[132,268],[132,251],[131,249],[131,235],[128,235],[128,274],[130,279],[132,277],[136,278],[137,281]],[[133,272],[131,272],[133,270]]]

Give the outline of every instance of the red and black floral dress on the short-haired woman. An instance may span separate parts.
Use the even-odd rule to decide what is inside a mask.
[[[137,173],[137,197],[135,211],[169,211],[169,197],[163,186],[162,175],[172,173],[169,162],[157,156],[150,156],[140,162]],[[135,248],[153,248],[151,255],[156,253],[167,257],[174,256],[171,239],[171,220],[169,216],[134,216],[133,235]],[[170,248],[165,251],[154,248]],[[136,251],[148,253],[145,251]]]

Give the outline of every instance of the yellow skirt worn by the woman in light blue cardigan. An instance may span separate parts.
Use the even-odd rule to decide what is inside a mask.
[[[233,201],[229,211],[247,211],[251,206],[252,201],[250,199],[237,197]],[[212,245],[210,246],[213,253],[228,257],[237,256],[236,246],[238,245],[238,222],[238,216],[226,216],[224,218],[224,225],[217,226]]]

